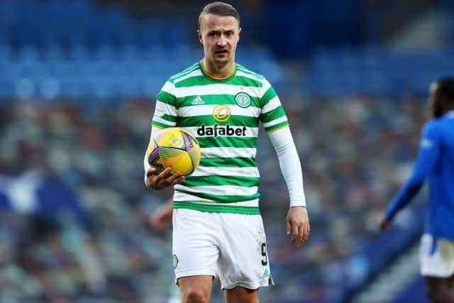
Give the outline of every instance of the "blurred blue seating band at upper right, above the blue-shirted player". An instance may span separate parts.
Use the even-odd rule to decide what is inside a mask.
[[[319,50],[309,60],[303,90],[310,94],[424,94],[433,79],[454,70],[454,48]]]

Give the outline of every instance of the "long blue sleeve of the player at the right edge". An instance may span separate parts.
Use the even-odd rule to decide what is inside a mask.
[[[433,170],[440,148],[440,139],[438,138],[438,131],[436,131],[436,123],[434,122],[428,122],[423,128],[418,158],[416,159],[413,172],[387,207],[385,216],[388,221],[391,221],[399,210],[409,204],[411,199],[421,189],[424,180],[426,180]]]

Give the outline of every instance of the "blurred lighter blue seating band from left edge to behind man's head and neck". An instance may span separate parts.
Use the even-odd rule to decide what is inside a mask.
[[[40,49],[29,45],[14,51],[3,45],[0,97],[153,98],[165,79],[199,60],[202,52],[188,45],[170,51],[162,45],[75,45],[68,53],[60,46]],[[282,84],[282,70],[265,49],[238,50],[238,57],[253,70],[273,70],[268,79],[277,87]]]

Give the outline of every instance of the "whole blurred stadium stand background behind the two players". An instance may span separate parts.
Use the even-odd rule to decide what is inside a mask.
[[[169,197],[143,184],[155,95],[203,57],[207,1],[0,1],[0,302],[164,303]],[[288,194],[259,140],[261,211],[275,287],[263,303],[426,302],[424,195],[378,233],[411,171],[429,84],[454,72],[450,0],[231,1],[237,62],[289,116],[311,238],[284,236]],[[212,302],[222,302],[218,285]]]

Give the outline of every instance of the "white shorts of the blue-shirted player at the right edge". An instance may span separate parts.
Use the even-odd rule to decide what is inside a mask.
[[[434,238],[428,233],[421,237],[419,250],[421,275],[428,277],[450,277],[454,274],[454,241]]]

